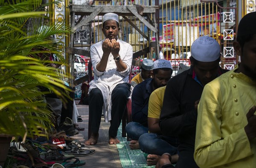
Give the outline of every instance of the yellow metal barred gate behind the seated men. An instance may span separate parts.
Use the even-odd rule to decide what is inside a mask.
[[[172,61],[174,69],[177,70],[179,63],[190,65],[188,59],[191,56],[190,46],[196,38],[202,35],[211,36],[220,43],[221,66],[233,69],[239,60],[232,45],[236,38],[239,12],[242,17],[250,11],[255,11],[255,1],[72,0],[70,4],[67,0],[65,2],[66,5],[84,5],[88,10],[94,8],[95,11],[103,7],[109,12],[116,12],[117,8],[122,7],[123,11],[116,12],[119,14],[121,28],[119,38],[133,46],[133,65],[139,65],[138,60],[145,57],[153,60],[159,59],[158,46],[160,46],[164,58]],[[136,16],[133,12],[125,13],[127,9],[134,6],[140,16]],[[70,8],[66,8],[65,11],[71,14]],[[88,13],[76,13],[75,24],[89,15]],[[69,46],[89,51],[93,43],[102,40],[104,38],[101,31],[102,15],[99,13],[90,22],[78,28],[74,41],[69,39]],[[143,19],[147,20],[151,27],[142,22]],[[154,26],[157,29],[157,34],[154,32]],[[88,30],[85,31],[86,29]],[[87,56],[90,57],[90,55]]]

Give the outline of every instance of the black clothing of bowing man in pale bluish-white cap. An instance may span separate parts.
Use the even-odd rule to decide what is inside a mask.
[[[220,68],[219,72],[226,71]],[[179,137],[178,168],[198,168],[193,156],[197,120],[195,101],[201,98],[204,88],[192,75],[193,66],[169,80],[160,114],[159,125],[163,135]]]

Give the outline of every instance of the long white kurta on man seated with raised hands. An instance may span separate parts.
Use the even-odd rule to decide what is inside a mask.
[[[119,83],[128,83],[129,81],[133,49],[130,44],[122,40],[117,40],[120,44],[120,59],[127,65],[127,68],[125,69],[125,71],[122,72],[117,71],[113,55],[110,54],[108,57],[106,70],[104,72],[100,72],[96,69],[96,66],[100,62],[103,55],[103,41],[104,40],[90,47],[90,56],[93,65],[94,79],[89,83],[89,94],[93,88],[99,88],[102,91],[104,100],[103,114],[105,117],[105,122],[108,122],[111,120],[111,93],[113,89]]]

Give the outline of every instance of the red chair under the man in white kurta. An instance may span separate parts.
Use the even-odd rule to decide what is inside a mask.
[[[93,73],[92,73],[92,63],[91,60],[88,62],[88,75],[89,75],[89,82],[93,80]],[[131,83],[131,72],[129,74],[129,83]],[[90,116],[88,117],[88,139],[90,138]],[[122,117],[122,137],[126,137],[125,126],[128,122],[131,122],[131,99],[128,99],[124,115]],[[128,137],[127,137],[128,140]]]

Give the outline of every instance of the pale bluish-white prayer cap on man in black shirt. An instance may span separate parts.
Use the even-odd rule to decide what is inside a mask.
[[[201,36],[191,46],[191,56],[201,62],[218,60],[221,54],[219,43],[212,37]]]

